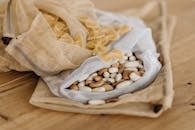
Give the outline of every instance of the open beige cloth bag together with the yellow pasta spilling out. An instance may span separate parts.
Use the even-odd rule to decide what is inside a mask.
[[[34,71],[44,77],[75,69],[92,52],[108,51],[108,45],[102,46],[101,41],[109,44],[117,40],[118,33],[121,36],[129,31],[125,26],[100,27],[89,0],[3,0],[0,7],[0,36],[12,39],[7,46],[1,41],[1,71]],[[43,12],[60,22],[55,18],[52,21],[52,17],[48,20]],[[52,30],[50,22],[56,22],[59,31]],[[61,26],[63,24],[67,26]],[[61,31],[65,28],[67,34]],[[109,35],[96,39],[104,29],[110,31]],[[57,37],[58,33],[63,33],[63,40]],[[89,40],[93,36],[95,40]]]

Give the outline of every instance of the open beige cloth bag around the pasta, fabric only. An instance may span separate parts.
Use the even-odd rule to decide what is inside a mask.
[[[84,47],[57,40],[48,21],[39,11],[46,10],[60,17],[67,23],[71,35],[81,38],[82,43],[86,43],[88,32],[77,17],[96,19],[90,1],[4,0],[4,2],[1,6],[5,8],[0,10],[2,12],[0,35],[13,39],[8,46],[0,48],[2,51],[0,58],[8,60],[0,62],[3,71],[29,70],[40,76],[54,75],[62,70],[78,67],[91,56],[91,52]]]

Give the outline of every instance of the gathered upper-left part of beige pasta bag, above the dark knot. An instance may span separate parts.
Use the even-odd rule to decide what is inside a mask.
[[[7,0],[3,35],[13,38],[28,31],[37,14],[32,0]]]

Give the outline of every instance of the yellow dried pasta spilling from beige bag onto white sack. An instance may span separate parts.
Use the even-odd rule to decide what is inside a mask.
[[[114,49],[108,52],[108,46],[113,41],[118,40],[121,35],[129,32],[130,28],[128,25],[100,26],[97,22],[87,17],[80,17],[78,20],[89,32],[86,43],[82,43],[83,39],[79,34],[76,34],[74,37],[71,36],[66,22],[52,14],[42,13],[60,41],[81,47],[86,44],[86,49],[92,51],[95,55],[100,55],[104,60],[122,58],[120,50]]]

